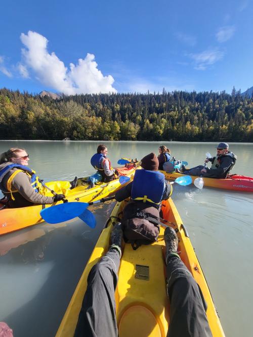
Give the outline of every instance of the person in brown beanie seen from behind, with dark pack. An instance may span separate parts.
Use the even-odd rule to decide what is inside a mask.
[[[141,170],[136,170],[134,180],[115,194],[117,201],[131,197],[123,210],[122,227],[125,242],[134,249],[156,241],[159,234],[161,201],[172,194],[172,185],[158,171],[158,159],[154,153],[145,156]]]

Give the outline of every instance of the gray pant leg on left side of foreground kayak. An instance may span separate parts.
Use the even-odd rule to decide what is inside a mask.
[[[118,336],[114,293],[119,263],[119,253],[112,249],[91,269],[75,337]]]

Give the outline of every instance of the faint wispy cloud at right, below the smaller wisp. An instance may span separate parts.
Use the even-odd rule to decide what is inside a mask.
[[[208,66],[221,60],[224,56],[224,53],[217,49],[209,49],[199,54],[190,54],[189,56],[195,61],[194,69],[205,70]]]

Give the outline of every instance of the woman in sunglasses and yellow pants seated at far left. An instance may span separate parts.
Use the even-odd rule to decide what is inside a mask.
[[[77,177],[71,182],[55,181],[47,183],[56,194],[44,187],[28,167],[29,155],[24,149],[12,148],[0,156],[0,189],[7,198],[8,208],[19,208],[34,204],[52,204],[65,198],[68,189],[74,188]]]

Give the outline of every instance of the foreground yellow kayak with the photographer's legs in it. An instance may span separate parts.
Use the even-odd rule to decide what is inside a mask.
[[[56,337],[74,335],[78,314],[87,288],[87,277],[91,268],[107,252],[110,232],[120,218],[127,201],[117,203],[103,229],[94,251],[77,284],[76,290],[62,319]],[[214,336],[224,336],[219,317],[205,277],[191,245],[188,233],[172,201],[163,201],[164,223],[172,225],[180,239],[180,257],[196,282],[199,284],[207,303],[207,319]],[[166,276],[163,240],[164,228],[160,228],[158,241],[143,245],[134,251],[130,244],[122,246],[122,257],[115,291],[116,316],[120,337],[166,336],[170,321],[169,304],[166,294]]]

